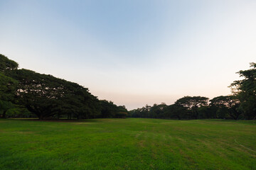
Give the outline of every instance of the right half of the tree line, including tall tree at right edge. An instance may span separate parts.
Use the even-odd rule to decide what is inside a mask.
[[[132,118],[168,119],[256,119],[256,63],[251,69],[238,72],[242,80],[230,84],[232,95],[218,96],[209,100],[203,96],[184,96],[174,104],[144,106],[129,111]]]

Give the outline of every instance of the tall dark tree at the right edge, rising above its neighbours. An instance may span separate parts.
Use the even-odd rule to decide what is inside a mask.
[[[240,100],[240,108],[246,119],[256,119],[256,63],[250,63],[252,69],[240,70],[238,74],[244,77],[230,85],[235,96]]]

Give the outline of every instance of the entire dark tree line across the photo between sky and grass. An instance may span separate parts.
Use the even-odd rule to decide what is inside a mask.
[[[144,106],[127,111],[112,101],[99,100],[79,84],[18,69],[18,63],[0,54],[0,118],[170,118],[256,119],[256,63],[238,72],[242,80],[230,84],[232,95],[209,100],[184,96],[174,104]]]

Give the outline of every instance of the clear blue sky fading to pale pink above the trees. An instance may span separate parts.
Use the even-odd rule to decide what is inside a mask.
[[[0,0],[0,53],[128,110],[230,94],[256,62],[255,0]]]

